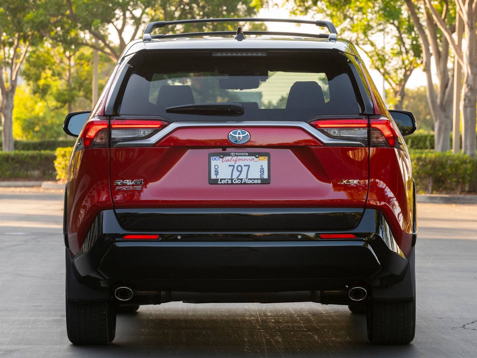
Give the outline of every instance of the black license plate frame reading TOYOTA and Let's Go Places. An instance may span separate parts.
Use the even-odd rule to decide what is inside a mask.
[[[212,178],[212,157],[223,158],[259,158],[267,157],[267,176],[268,178]],[[260,160],[265,162],[265,160]],[[232,161],[230,163],[233,163]],[[243,162],[242,162],[243,163]],[[242,169],[243,170],[243,169]],[[245,180],[244,180],[245,179]],[[259,182],[257,182],[259,181]],[[270,153],[268,152],[219,152],[208,154],[208,182],[209,184],[229,184],[229,185],[251,185],[251,184],[270,184]]]

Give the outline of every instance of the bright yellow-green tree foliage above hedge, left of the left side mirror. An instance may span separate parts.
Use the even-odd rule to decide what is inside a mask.
[[[56,139],[66,137],[62,122],[69,112],[91,109],[93,50],[65,47],[46,41],[33,47],[21,72],[26,84],[15,95],[13,137]],[[114,63],[100,56],[102,90]]]

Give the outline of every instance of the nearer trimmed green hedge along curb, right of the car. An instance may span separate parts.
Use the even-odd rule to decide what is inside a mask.
[[[460,194],[476,190],[476,157],[432,150],[410,150],[409,154],[419,192]]]

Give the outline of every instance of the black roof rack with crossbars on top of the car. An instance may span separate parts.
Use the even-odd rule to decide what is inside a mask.
[[[306,23],[311,25],[316,25],[320,27],[326,27],[330,32],[329,35],[325,34],[307,34],[307,33],[296,33],[296,32],[270,32],[270,31],[244,31],[243,34],[249,35],[285,35],[285,36],[307,36],[307,37],[317,37],[317,38],[326,38],[328,37],[329,41],[336,41],[337,34],[336,28],[334,27],[331,21],[321,21],[321,20],[293,20],[293,19],[260,19],[260,18],[220,18],[220,19],[191,19],[191,20],[176,20],[176,21],[155,21],[149,22],[144,30],[143,41],[149,42],[152,40],[151,32],[158,27],[166,27],[170,25],[178,24],[187,24],[187,23],[200,23],[200,22],[291,22],[291,23]],[[171,34],[171,35],[153,35],[154,38],[166,38],[166,37],[182,37],[185,35],[188,36],[207,36],[207,35],[233,35],[236,34],[235,31],[210,31],[210,32],[190,32],[190,33],[181,33],[181,34]]]

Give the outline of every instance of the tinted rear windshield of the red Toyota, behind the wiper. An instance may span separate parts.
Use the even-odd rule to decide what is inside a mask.
[[[364,113],[351,66],[338,52],[148,53],[128,69],[114,112],[172,121],[227,119],[166,108],[235,102],[244,111],[234,120],[305,121]]]

